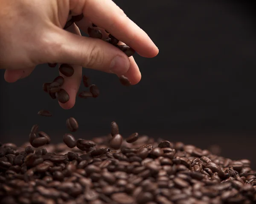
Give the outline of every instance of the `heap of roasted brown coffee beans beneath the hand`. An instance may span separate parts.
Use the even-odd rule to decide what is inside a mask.
[[[75,132],[75,118],[67,119]],[[36,137],[38,134],[38,138]],[[29,143],[0,145],[1,204],[253,204],[256,171],[181,142],[137,132],[49,144],[34,125]],[[31,146],[32,147],[31,147]]]

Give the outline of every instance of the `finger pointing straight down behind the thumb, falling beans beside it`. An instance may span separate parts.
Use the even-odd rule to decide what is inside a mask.
[[[67,31],[81,35],[79,28],[75,24],[67,28]],[[64,78],[64,84],[61,88],[64,89],[70,96],[70,100],[67,103],[59,102],[60,106],[64,109],[70,109],[75,105],[76,94],[78,92],[82,77],[82,67],[74,64],[71,64],[71,66],[74,69],[74,74],[71,77],[66,77],[65,75],[61,74],[61,72],[59,72],[60,75]]]

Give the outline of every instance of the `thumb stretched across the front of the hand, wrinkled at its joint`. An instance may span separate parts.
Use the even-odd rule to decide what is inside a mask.
[[[129,58],[115,46],[96,38],[83,37],[60,29],[56,37],[58,50],[52,61],[76,64],[103,72],[124,75]]]

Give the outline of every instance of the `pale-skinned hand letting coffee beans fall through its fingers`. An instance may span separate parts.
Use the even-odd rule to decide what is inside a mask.
[[[112,0],[0,0],[0,5],[0,69],[6,69],[5,80],[12,83],[25,78],[38,64],[69,63],[75,72],[69,78],[62,75],[63,89],[70,95],[67,103],[60,103],[64,109],[75,104],[82,67],[125,75],[132,84],[141,79],[133,57],[103,40],[82,37],[79,29],[87,32],[93,22],[142,57],[155,57],[159,52]],[[84,18],[64,30],[69,11]]]

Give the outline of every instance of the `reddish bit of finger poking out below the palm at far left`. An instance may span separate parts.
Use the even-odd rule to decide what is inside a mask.
[[[23,79],[31,74],[31,72],[34,70],[34,68],[28,68],[28,69],[7,69],[4,72],[4,79],[8,83],[16,82],[19,79]]]

